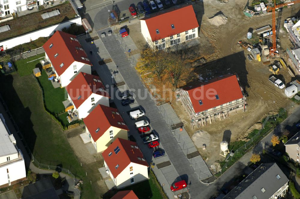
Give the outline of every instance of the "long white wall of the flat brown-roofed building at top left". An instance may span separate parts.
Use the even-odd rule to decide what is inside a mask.
[[[3,1],[3,0],[0,0]],[[1,8],[3,9],[3,8]],[[76,25],[81,25],[81,17],[77,17],[75,19],[71,19],[69,21],[55,24],[46,28],[42,28],[37,31],[30,32],[28,34],[22,34],[17,37],[13,37],[11,39],[0,41],[0,46],[3,46],[4,49],[13,48],[14,46],[17,46],[19,44],[28,43],[33,40],[38,39],[39,37],[48,37],[52,34],[54,34],[54,31],[62,30],[63,28],[69,28],[71,24],[76,23]],[[9,34],[8,32],[5,32],[3,34]]]

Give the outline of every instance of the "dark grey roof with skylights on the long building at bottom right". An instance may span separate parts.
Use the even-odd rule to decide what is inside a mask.
[[[277,179],[277,175],[280,176]],[[256,168],[223,199],[268,199],[289,180],[276,163],[264,163]],[[265,192],[262,192],[262,188]]]

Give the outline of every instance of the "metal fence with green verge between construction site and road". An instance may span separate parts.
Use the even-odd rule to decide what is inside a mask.
[[[293,107],[293,103],[291,103],[291,106],[287,105],[287,107]],[[281,109],[281,111],[279,111],[276,115],[267,115],[262,122],[261,129],[259,129],[259,131],[255,135],[249,138],[249,141],[247,141],[241,147],[236,149],[234,153],[231,153],[233,154],[232,156],[228,155],[223,167],[221,168],[221,171],[219,171],[215,175],[220,176],[222,173],[224,173],[229,167],[231,167],[235,162],[237,162],[238,159],[240,159],[246,153],[247,150],[249,150],[257,142],[259,142],[271,130],[273,130],[274,126],[272,126],[270,129],[265,129],[266,124],[269,120],[272,119],[276,121],[277,118],[282,117],[284,114],[286,114],[286,108]]]

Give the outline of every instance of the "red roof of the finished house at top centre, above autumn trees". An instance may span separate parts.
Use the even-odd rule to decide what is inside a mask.
[[[146,21],[152,41],[199,27],[192,5],[162,13],[158,16],[145,17],[141,20]],[[174,28],[171,27],[172,24]],[[159,34],[156,33],[156,29],[158,29]]]

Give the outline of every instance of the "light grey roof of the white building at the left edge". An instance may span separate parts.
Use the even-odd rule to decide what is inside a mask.
[[[4,118],[2,116],[2,114],[0,114],[0,157],[3,156],[8,156],[11,154],[15,154],[18,153],[18,151],[16,150],[16,147],[14,146],[14,144],[12,143],[12,141],[10,141],[9,133],[6,129],[6,127],[4,126]]]

